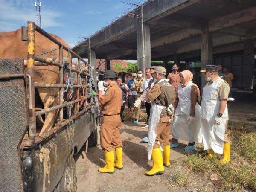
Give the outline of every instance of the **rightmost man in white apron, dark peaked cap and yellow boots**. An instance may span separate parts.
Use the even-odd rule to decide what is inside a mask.
[[[201,131],[204,150],[210,149],[207,158],[223,154],[221,164],[230,162],[230,140],[227,137],[227,99],[230,87],[218,76],[218,66],[207,65],[204,70],[208,82],[203,88],[201,103]]]

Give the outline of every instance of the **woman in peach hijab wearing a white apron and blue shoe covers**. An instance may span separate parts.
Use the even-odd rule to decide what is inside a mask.
[[[200,131],[200,91],[193,83],[193,74],[189,70],[180,72],[181,83],[178,86],[178,103],[172,124],[172,142],[170,147],[179,146],[178,140],[189,142],[185,151],[195,150],[195,142],[201,142]]]

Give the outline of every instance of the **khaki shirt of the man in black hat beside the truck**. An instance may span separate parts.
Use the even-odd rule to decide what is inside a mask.
[[[116,115],[120,113],[122,106],[122,90],[116,82],[111,82],[105,94],[99,102],[102,104],[102,114]]]

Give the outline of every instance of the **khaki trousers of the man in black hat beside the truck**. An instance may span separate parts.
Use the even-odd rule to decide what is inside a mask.
[[[104,152],[113,151],[113,148],[122,147],[120,128],[122,126],[120,114],[102,117],[99,130],[100,146]]]

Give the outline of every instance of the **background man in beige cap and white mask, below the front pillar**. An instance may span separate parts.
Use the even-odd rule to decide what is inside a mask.
[[[137,71],[137,78],[134,79],[134,83],[133,83],[133,88],[134,90],[137,91],[137,99],[142,96],[143,94],[143,82],[144,82],[144,78],[143,78],[143,71],[142,70],[138,70]],[[134,119],[134,123],[137,124],[139,122],[139,118],[140,118],[140,107],[141,107],[141,103],[135,108],[135,119]]]

